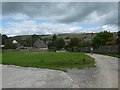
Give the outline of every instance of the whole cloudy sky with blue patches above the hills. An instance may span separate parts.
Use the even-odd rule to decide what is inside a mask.
[[[14,35],[118,31],[117,2],[3,2],[2,33]]]

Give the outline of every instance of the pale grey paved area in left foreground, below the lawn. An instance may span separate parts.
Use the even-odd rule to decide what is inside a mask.
[[[63,71],[2,66],[3,88],[70,88],[73,80]]]

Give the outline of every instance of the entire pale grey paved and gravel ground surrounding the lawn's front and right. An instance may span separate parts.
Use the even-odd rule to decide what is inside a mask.
[[[90,54],[88,54],[90,55]],[[118,88],[118,59],[93,54],[95,68],[57,70],[2,66],[3,88]]]

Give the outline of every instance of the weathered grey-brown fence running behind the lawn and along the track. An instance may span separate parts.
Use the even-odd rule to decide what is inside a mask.
[[[80,48],[68,48],[67,51],[73,51],[73,52],[91,52],[90,50],[91,47],[80,47]],[[96,53],[118,53],[119,51],[119,46],[118,45],[105,45],[105,46],[100,46],[98,48],[93,47],[93,52]],[[16,49],[5,49],[4,51],[17,51]],[[21,49],[19,51],[48,51],[48,49],[37,49],[37,48],[32,48],[32,49]]]

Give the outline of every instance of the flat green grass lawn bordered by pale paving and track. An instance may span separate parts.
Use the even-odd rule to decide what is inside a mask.
[[[2,64],[65,70],[93,67],[95,61],[79,52],[4,52]]]

